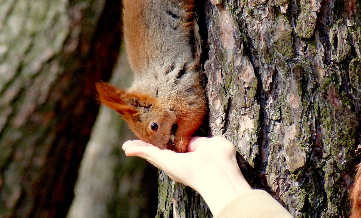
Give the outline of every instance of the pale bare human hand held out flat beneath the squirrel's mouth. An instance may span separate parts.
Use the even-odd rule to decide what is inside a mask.
[[[237,165],[234,145],[222,137],[194,137],[187,153],[161,150],[141,140],[126,141],[123,150],[127,156],[142,157],[174,181],[197,190],[213,214],[252,189]]]

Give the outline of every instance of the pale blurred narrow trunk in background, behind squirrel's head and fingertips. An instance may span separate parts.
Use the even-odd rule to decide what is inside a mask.
[[[109,83],[129,87],[131,69],[121,52]],[[102,106],[84,152],[68,218],[153,218],[157,169],[142,158],[126,157],[122,144],[135,135],[121,116]]]

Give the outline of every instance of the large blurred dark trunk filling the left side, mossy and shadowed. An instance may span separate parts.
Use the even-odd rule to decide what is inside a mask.
[[[65,217],[121,39],[118,1],[0,1],[0,217]]]

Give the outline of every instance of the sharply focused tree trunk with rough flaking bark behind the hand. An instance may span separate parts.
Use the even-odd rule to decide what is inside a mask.
[[[361,3],[210,0],[199,5],[210,135],[231,140],[254,188],[295,217],[348,217],[358,163]],[[211,217],[160,173],[157,217]]]

